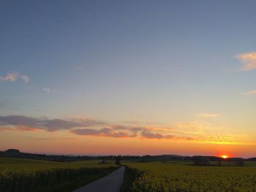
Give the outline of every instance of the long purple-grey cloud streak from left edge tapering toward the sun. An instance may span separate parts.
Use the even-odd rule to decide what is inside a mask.
[[[95,127],[95,128],[92,128]],[[84,116],[68,119],[32,118],[23,115],[0,116],[1,131],[61,131],[69,130],[72,134],[94,137],[146,138],[146,139],[195,139],[182,135],[170,134],[168,128],[146,126],[111,125],[101,120]]]

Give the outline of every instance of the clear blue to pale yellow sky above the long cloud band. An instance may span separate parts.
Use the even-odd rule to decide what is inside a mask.
[[[1,1],[0,77],[18,76],[0,82],[0,115],[175,124],[217,113],[222,124],[246,122],[256,134],[255,70],[241,70],[238,58],[256,55],[255,7]]]

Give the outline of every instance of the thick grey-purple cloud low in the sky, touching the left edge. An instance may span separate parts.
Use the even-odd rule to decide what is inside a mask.
[[[102,122],[92,119],[66,120],[58,118],[31,118],[23,115],[0,116],[1,127],[23,131],[31,131],[36,129],[44,129],[45,131],[59,131],[96,125],[102,125]]]

